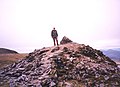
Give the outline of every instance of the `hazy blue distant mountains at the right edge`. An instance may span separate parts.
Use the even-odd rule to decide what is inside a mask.
[[[120,50],[120,49],[119,49]],[[102,52],[113,60],[120,61],[120,51],[118,49],[102,50]]]

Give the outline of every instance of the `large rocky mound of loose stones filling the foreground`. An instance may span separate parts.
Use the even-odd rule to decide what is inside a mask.
[[[10,87],[120,87],[120,69],[101,51],[62,39],[0,70]]]

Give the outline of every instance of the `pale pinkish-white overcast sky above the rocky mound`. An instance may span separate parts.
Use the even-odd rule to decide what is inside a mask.
[[[0,48],[20,53],[67,36],[95,49],[120,47],[120,0],[0,0]]]

